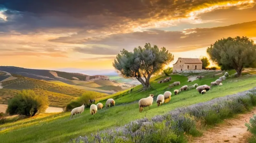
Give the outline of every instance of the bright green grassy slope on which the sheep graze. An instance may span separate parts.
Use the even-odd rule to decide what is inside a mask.
[[[203,95],[199,94],[196,89],[184,91],[177,96],[172,95],[171,101],[161,105],[160,107],[157,107],[156,99],[154,99],[153,105],[150,106],[150,110],[139,113],[138,102],[133,101],[147,97],[148,94],[152,93],[158,95],[164,93],[166,90],[173,92],[174,89],[178,89],[183,85],[193,85],[194,83],[198,83],[199,85],[209,85],[211,81],[218,77],[202,79],[200,81],[196,80],[189,83],[185,82],[187,80],[186,77],[172,75],[172,82],[179,80],[182,84],[171,89],[167,85],[172,82],[157,84],[157,81],[163,78],[164,77],[154,77],[151,81],[153,89],[150,91],[139,92],[140,86],[138,86],[134,88],[132,93],[120,92],[120,95],[109,95],[108,97],[117,98],[116,105],[119,106],[111,107],[110,109],[103,108],[102,110],[98,110],[98,113],[93,116],[89,114],[89,109],[85,109],[84,113],[80,117],[76,117],[72,120],[68,119],[70,115],[68,112],[51,115],[43,119],[19,121],[19,123],[22,124],[15,122],[0,125],[0,138],[3,142],[66,142],[70,138],[77,137],[78,135],[88,135],[91,132],[96,132],[97,130],[121,126],[138,118],[145,116],[150,118],[155,115],[164,114],[177,107],[209,101],[216,97],[234,94],[256,86],[256,76],[244,76],[237,79],[228,78],[228,80],[223,82],[223,86],[212,87],[212,90]],[[105,103],[105,99],[102,99],[102,103]],[[120,105],[126,102],[130,103]]]

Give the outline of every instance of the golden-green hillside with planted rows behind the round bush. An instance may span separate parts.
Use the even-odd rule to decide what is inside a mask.
[[[50,106],[63,107],[75,97],[82,94],[93,94],[95,98],[104,97],[108,94],[103,94],[94,91],[87,91],[83,88],[74,88],[71,85],[56,85],[47,81],[19,77],[18,79],[2,82],[4,88],[0,90],[0,102],[6,104],[6,100],[12,98],[22,89],[32,89],[37,94],[48,95]]]

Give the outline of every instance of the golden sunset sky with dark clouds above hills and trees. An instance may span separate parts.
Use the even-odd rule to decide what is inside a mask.
[[[207,56],[221,38],[256,40],[255,0],[0,0],[0,65],[111,70],[145,43]]]

